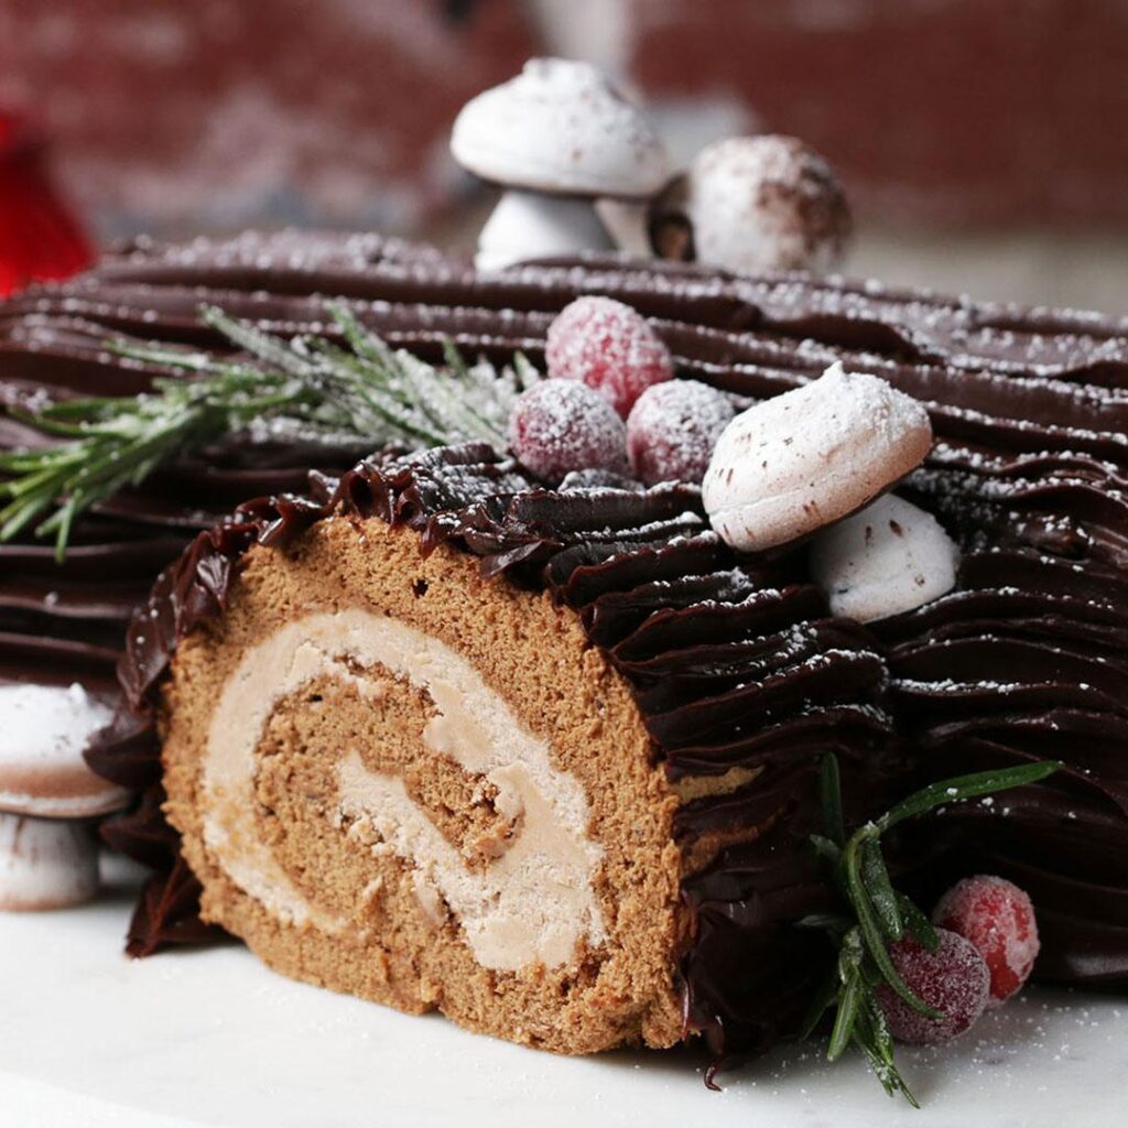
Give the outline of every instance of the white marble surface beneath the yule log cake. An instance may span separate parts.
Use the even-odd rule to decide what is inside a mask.
[[[569,1059],[290,982],[228,944],[131,962],[132,889],[0,915],[0,1125],[173,1128],[1120,1122],[1128,999],[1030,992],[945,1049],[902,1050],[925,1108],[856,1058],[792,1049],[702,1084],[686,1052]],[[706,1119],[707,1118],[707,1119]]]

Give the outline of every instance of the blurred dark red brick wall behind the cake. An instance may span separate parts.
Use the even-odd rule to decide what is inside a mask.
[[[1033,271],[1036,297],[1116,300],[1128,0],[0,0],[0,108],[52,139],[98,239],[297,222],[465,243],[450,123],[537,52],[634,81],[682,158],[735,131],[813,143],[858,213],[858,268],[944,284],[970,256],[979,289]]]

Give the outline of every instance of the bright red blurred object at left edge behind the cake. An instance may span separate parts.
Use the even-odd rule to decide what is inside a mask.
[[[90,245],[47,178],[42,141],[0,113],[0,296],[88,266]]]

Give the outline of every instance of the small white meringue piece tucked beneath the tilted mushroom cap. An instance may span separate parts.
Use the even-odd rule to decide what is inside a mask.
[[[936,518],[892,494],[823,529],[811,544],[811,575],[830,610],[860,623],[946,594],[959,563],[960,550]]]

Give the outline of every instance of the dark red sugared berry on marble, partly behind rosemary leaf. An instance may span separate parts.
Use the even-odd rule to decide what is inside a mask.
[[[943,1014],[929,1019],[914,1011],[887,984],[874,990],[890,1033],[902,1042],[932,1046],[962,1034],[987,1005],[990,976],[975,945],[954,932],[937,928],[940,946],[929,952],[915,940],[889,945],[893,967],[917,998]]]

